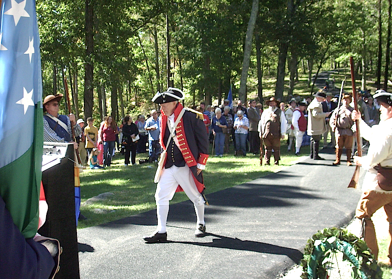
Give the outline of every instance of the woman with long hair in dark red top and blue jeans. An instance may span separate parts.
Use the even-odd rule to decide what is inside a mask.
[[[103,142],[103,166],[110,167],[113,150],[116,144],[118,129],[112,116],[108,116],[101,127],[101,140]]]

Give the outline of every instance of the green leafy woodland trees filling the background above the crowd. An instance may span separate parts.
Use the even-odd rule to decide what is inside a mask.
[[[230,85],[235,98],[262,99],[262,79],[275,77],[273,94],[284,99],[295,73],[315,74],[348,55],[363,79],[377,71],[388,78],[390,62],[376,62],[389,53],[386,0],[259,1],[246,36],[255,2],[37,0],[44,95],[63,92],[67,77],[78,116],[119,121],[152,108],[151,97],[168,86],[192,106],[221,103]]]

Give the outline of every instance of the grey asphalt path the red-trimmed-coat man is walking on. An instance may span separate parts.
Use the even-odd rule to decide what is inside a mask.
[[[155,230],[155,210],[78,230],[80,278],[280,277],[299,263],[318,230],[349,223],[361,195],[347,189],[353,166],[332,166],[332,148],[320,155],[326,160],[303,157],[278,173],[208,194],[203,238],[193,236],[190,201],[170,206],[167,243],[142,239]]]

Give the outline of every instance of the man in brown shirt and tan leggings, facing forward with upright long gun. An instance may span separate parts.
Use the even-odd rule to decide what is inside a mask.
[[[350,106],[351,96],[343,95],[342,105],[336,108],[329,120],[329,126],[335,131],[337,141],[336,145],[336,160],[333,165],[340,165],[340,158],[343,153],[343,148],[346,148],[347,166],[351,166],[351,148],[354,139],[353,125],[354,121],[351,119],[351,113],[354,110]]]

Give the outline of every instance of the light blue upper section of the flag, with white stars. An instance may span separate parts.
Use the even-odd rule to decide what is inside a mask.
[[[30,148],[34,105],[42,101],[34,0],[2,1],[0,44],[1,168]]]

